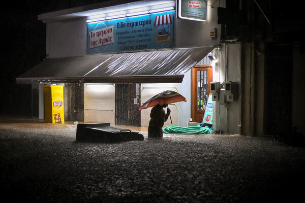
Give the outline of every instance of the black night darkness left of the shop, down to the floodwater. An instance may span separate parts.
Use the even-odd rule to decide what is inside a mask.
[[[15,78],[45,58],[46,25],[38,15],[100,2],[105,1],[10,1],[2,9],[0,116],[31,116],[31,85],[16,84]]]

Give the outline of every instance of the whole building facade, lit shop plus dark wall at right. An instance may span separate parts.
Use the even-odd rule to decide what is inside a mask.
[[[52,83],[65,86],[68,120],[145,127],[150,110],[137,108],[174,90],[187,102],[170,105],[172,124],[165,126],[187,126],[202,114],[201,92],[213,97],[214,130],[274,136],[298,126],[304,133],[302,39],[287,36],[302,23],[280,19],[273,1],[194,1],[206,7],[202,21],[179,16],[179,2],[114,1],[38,16],[47,28],[47,57],[17,81],[33,84],[39,118],[43,85]],[[212,73],[204,91],[200,65]]]

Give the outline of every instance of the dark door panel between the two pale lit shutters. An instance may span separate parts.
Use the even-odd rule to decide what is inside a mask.
[[[115,85],[115,124],[141,126],[140,107],[141,84]]]

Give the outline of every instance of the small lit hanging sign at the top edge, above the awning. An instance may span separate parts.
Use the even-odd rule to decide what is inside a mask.
[[[206,0],[178,0],[177,18],[206,21]]]

